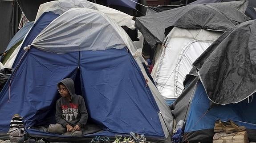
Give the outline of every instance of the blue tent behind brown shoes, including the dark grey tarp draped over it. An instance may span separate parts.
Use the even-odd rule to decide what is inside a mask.
[[[244,126],[249,141],[256,141],[255,30],[256,20],[237,25],[193,63],[183,93],[171,105],[176,121],[186,121],[184,141],[212,142],[219,119]]]

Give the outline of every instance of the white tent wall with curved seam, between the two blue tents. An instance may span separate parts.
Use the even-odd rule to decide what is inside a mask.
[[[163,97],[176,99],[183,92],[183,81],[192,63],[223,32],[203,29],[191,30],[174,27],[162,46],[162,54],[156,57],[151,75]]]

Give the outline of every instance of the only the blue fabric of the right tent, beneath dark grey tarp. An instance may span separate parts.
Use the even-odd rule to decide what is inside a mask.
[[[210,100],[202,83],[196,85],[190,112],[187,117],[185,132],[213,129],[215,120],[223,122],[229,119],[248,129],[256,129],[256,100],[243,100],[236,104],[218,105],[210,108]]]

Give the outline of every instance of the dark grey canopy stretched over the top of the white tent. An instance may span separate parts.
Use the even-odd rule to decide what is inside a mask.
[[[157,43],[163,42],[165,38],[164,33],[168,33],[172,26],[227,31],[249,19],[242,13],[247,8],[247,4],[248,1],[235,1],[207,5],[187,5],[152,15],[137,17],[135,27],[142,32],[150,46],[155,47]],[[239,7],[242,12],[235,7]]]

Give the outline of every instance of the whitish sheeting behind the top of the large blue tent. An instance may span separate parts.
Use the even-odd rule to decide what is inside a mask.
[[[135,3],[136,4],[136,3]],[[63,14],[70,8],[90,8],[94,10],[101,11],[108,15],[111,19],[113,19],[118,25],[126,25],[130,29],[135,29],[134,23],[135,21],[132,20],[133,17],[127,15],[126,13],[120,12],[113,8],[108,8],[106,6],[100,4],[94,4],[87,0],[56,0],[52,2],[48,2],[45,4],[41,4],[38,12],[36,20],[44,13],[44,12],[53,12],[58,15]]]

